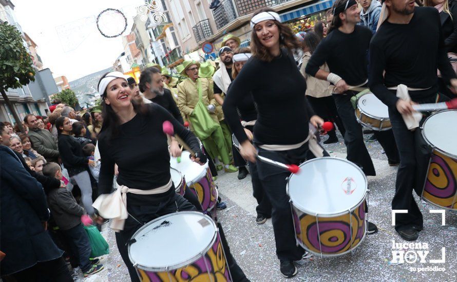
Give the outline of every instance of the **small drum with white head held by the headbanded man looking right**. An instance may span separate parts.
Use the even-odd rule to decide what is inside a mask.
[[[359,124],[372,130],[391,129],[389,110],[373,93],[367,93],[358,98],[355,117]]]

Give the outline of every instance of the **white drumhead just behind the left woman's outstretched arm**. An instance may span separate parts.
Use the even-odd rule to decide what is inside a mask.
[[[199,164],[192,162],[191,158],[189,158],[190,155],[191,153],[183,151],[181,154],[181,163],[178,163],[176,157],[170,157],[170,166],[184,175],[187,185],[199,182],[200,179],[205,176],[206,169],[208,168],[208,162],[203,166],[200,166]]]

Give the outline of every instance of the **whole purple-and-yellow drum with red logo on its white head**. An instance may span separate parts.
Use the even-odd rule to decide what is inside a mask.
[[[287,183],[297,244],[321,257],[352,252],[366,234],[367,187],[363,171],[346,159],[301,164]]]

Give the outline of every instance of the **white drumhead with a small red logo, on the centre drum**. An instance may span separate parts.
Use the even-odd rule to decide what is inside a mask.
[[[303,212],[332,215],[355,208],[367,187],[365,174],[353,163],[320,157],[301,164],[298,173],[289,177],[288,194]]]

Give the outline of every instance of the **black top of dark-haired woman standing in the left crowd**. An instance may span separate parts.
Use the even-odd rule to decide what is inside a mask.
[[[83,147],[76,138],[59,134],[59,154],[70,177],[87,170],[89,160],[84,156]]]

